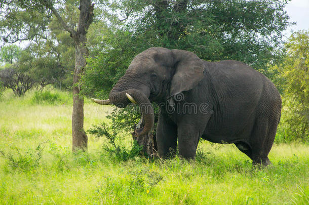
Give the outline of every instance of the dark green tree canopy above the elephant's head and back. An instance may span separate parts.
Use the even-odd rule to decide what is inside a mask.
[[[205,60],[240,60],[258,69],[274,58],[289,25],[286,0],[136,0],[122,6],[129,10],[133,4],[140,7],[127,25],[149,46],[188,50]]]

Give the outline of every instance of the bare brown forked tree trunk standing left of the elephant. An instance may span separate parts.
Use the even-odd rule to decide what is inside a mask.
[[[73,76],[73,112],[72,112],[72,150],[87,149],[88,137],[84,131],[84,98],[80,96],[81,87],[79,85],[81,75],[86,66],[86,57],[89,52],[86,47],[87,30],[93,21],[93,7],[91,0],[80,0],[80,18],[78,29],[70,28],[61,18],[57,10],[49,0],[45,0],[45,5],[57,17],[62,27],[70,33],[75,43],[75,69]]]

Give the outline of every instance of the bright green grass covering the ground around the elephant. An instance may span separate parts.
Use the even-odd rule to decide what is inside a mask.
[[[206,141],[196,161],[119,162],[93,136],[88,152],[73,154],[71,96],[52,93],[66,103],[33,103],[34,91],[0,101],[0,204],[309,204],[308,145],[275,144],[264,169],[234,145]],[[111,109],[86,99],[85,130]]]

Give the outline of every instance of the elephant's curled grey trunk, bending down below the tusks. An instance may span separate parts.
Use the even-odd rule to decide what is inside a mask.
[[[130,103],[130,100],[136,103],[140,108],[144,121],[144,127],[135,130],[134,135],[141,136],[149,133],[155,121],[152,104],[150,103],[146,95],[141,91],[137,89],[121,90],[118,85],[119,84],[116,84],[114,88],[110,91],[109,101],[120,108],[126,107]],[[129,98],[131,99],[129,100]]]

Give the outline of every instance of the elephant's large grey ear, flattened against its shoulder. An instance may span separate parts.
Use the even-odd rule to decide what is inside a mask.
[[[183,50],[172,50],[174,76],[171,80],[170,97],[196,87],[204,77],[205,65],[197,55]]]

